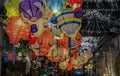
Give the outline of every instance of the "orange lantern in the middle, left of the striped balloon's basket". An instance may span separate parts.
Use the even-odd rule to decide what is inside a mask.
[[[38,38],[38,43],[40,44],[40,55],[44,56],[53,45],[53,36],[51,35],[50,28],[47,28],[41,34]]]

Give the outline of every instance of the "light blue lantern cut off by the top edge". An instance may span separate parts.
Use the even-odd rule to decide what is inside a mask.
[[[48,8],[53,11],[53,13],[57,13],[61,11],[65,5],[66,0],[46,0]]]

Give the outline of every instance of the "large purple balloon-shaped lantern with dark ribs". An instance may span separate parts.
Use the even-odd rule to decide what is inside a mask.
[[[22,0],[19,5],[22,16],[35,22],[44,14],[44,5],[42,0]]]

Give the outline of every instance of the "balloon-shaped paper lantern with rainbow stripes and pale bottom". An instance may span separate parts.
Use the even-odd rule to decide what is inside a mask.
[[[82,19],[76,18],[71,9],[66,9],[57,16],[57,26],[71,38],[75,38],[76,33],[79,32],[81,22]]]

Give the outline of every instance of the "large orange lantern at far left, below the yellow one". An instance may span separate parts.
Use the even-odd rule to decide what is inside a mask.
[[[4,28],[9,36],[10,44],[18,44],[20,39],[26,39],[25,35],[30,31],[30,25],[23,22],[21,17],[9,18],[9,24]]]

